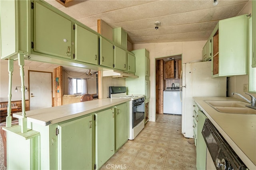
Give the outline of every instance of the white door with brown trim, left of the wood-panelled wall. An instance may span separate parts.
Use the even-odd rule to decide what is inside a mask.
[[[28,71],[30,110],[52,107],[52,72]]]

